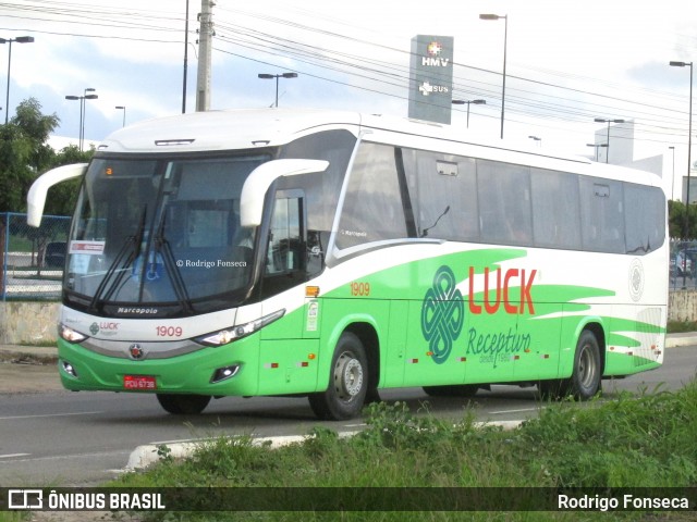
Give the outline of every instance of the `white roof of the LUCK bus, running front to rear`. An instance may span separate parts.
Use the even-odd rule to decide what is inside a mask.
[[[487,139],[474,132],[451,125],[348,111],[269,108],[158,117],[112,133],[97,150],[121,153],[173,153],[250,149],[288,144],[308,133],[331,128],[347,128],[356,135],[360,130],[369,130],[388,133],[393,137],[414,138],[400,139],[402,142],[395,144],[402,146],[417,142],[421,138],[430,138],[444,146],[433,147],[435,150],[452,150],[453,153],[463,153],[460,151],[466,150],[466,153],[477,158],[541,169],[571,169],[582,174],[660,186],[660,178],[649,172],[595,163],[587,158],[554,153],[552,150],[531,147],[528,144]],[[571,164],[573,166],[570,166]]]

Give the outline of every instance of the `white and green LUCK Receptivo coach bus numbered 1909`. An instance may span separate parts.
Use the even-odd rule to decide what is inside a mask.
[[[383,388],[596,395],[663,359],[669,241],[649,173],[327,111],[221,111],[118,130],[82,176],[59,370],[71,390],[307,396]]]

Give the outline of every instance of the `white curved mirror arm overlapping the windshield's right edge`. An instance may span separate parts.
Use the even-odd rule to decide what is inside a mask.
[[[264,198],[271,184],[279,177],[325,172],[328,166],[329,162],[323,160],[273,160],[257,166],[242,186],[242,226],[255,227],[261,224]]]

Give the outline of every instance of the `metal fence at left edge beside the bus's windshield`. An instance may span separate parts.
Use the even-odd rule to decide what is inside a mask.
[[[70,217],[45,215],[35,228],[0,212],[0,300],[60,298],[69,229]]]

